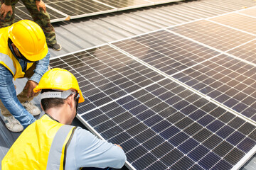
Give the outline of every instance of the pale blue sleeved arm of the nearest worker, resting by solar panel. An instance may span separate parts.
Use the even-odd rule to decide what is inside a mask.
[[[126,156],[121,147],[99,140],[91,132],[78,128],[68,146],[66,169],[111,167],[120,169]]]

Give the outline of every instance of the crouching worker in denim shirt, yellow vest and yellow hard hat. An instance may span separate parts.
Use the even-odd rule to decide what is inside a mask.
[[[46,37],[38,24],[22,20],[0,29],[0,109],[11,132],[21,132],[33,123],[41,110],[31,103],[49,65]],[[28,77],[21,94],[16,95],[13,79]]]

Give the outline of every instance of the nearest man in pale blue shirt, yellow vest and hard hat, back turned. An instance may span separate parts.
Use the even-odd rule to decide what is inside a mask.
[[[4,169],[119,169],[126,156],[122,147],[70,125],[78,103],[85,101],[73,74],[51,69],[35,92],[41,91],[45,115],[24,130],[1,162]]]

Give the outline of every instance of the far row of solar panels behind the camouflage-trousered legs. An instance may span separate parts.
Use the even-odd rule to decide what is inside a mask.
[[[95,16],[102,13],[166,4],[174,1],[181,0],[46,0],[45,3],[50,15],[50,22],[53,23],[85,16]],[[18,4],[16,4],[16,21],[22,19],[31,19],[31,16],[26,10],[26,6],[18,2]]]

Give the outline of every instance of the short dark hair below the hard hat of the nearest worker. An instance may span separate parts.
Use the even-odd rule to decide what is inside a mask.
[[[41,94],[43,94],[44,92],[47,92],[47,91],[55,91],[55,90],[43,89],[41,91]],[[64,104],[64,102],[65,102],[65,99],[63,99],[63,98],[43,98],[41,100],[41,104],[42,104],[44,111],[46,111],[49,108],[62,106]]]

